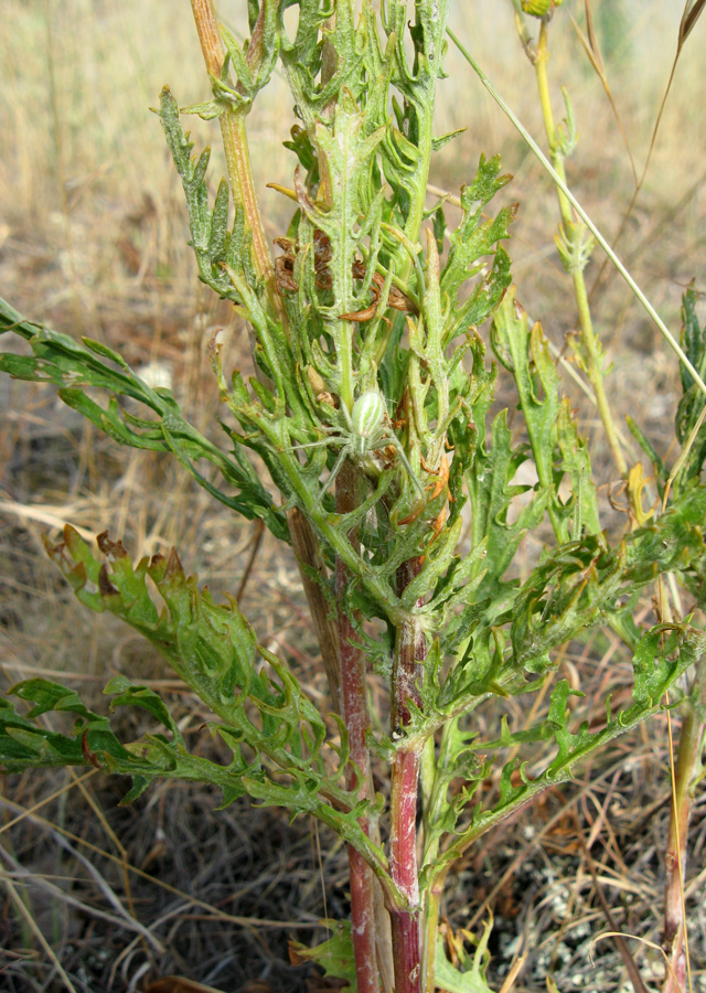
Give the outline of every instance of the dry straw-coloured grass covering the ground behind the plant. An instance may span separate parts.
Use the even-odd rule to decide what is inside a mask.
[[[242,6],[221,9],[236,21]],[[597,10],[611,6],[617,8],[617,0],[595,0]],[[456,25],[538,136],[532,68],[510,7],[499,0],[457,4]],[[578,2],[566,0],[565,7],[580,13]],[[611,85],[639,163],[674,53],[677,7],[671,0],[624,0],[622,29],[603,39],[613,52]],[[210,329],[226,329],[234,361],[239,355],[243,364],[247,339],[195,280],[181,193],[159,124],[148,113],[167,82],[182,104],[206,95],[189,4],[4,0],[0,8],[0,291],[32,318],[122,349],[136,365],[167,367],[186,412],[217,436],[205,355]],[[620,248],[672,328],[683,287],[696,277],[706,288],[703,30],[697,28],[685,49],[652,168]],[[610,235],[632,193],[629,161],[601,85],[564,15],[553,51],[555,92],[559,83],[568,86],[579,126],[569,180]],[[557,214],[549,182],[453,51],[448,67],[438,130],[462,125],[468,130],[442,152],[435,183],[458,190],[481,150],[502,152],[515,174],[513,196],[522,203],[511,246],[520,297],[563,349],[576,317],[554,248]],[[286,204],[264,184],[289,180],[291,163],[279,153],[292,124],[289,107],[277,83],[252,119],[271,234],[286,224]],[[193,131],[199,143],[215,141],[214,129],[196,119]],[[593,263],[589,285],[597,269]],[[668,457],[675,362],[612,275],[596,293],[595,318],[614,363],[609,389],[617,413],[631,413]],[[607,483],[612,470],[597,419],[569,378],[567,391],[580,407],[599,479]],[[189,569],[217,591],[237,587],[250,526],[214,506],[165,458],[116,450],[51,392],[0,381],[0,401],[6,412],[0,421],[4,686],[51,673],[101,706],[106,677],[125,671],[161,687],[195,741],[205,718],[199,702],[183,694],[130,632],[76,604],[45,558],[41,536],[71,520],[86,533],[110,530],[135,556],[175,544]],[[259,637],[296,660],[323,706],[324,681],[292,562],[267,540],[244,605]],[[614,700],[620,695],[624,659],[606,640],[570,649],[576,654],[567,651],[564,670],[587,694],[581,706],[599,719],[607,685],[618,681]],[[515,716],[523,719],[520,711]],[[484,719],[490,724],[495,715]],[[507,823],[461,867],[449,893],[451,925],[477,925],[474,908],[492,904],[493,950],[496,961],[504,961],[500,972],[517,950],[517,935],[532,952],[515,990],[544,990],[548,973],[561,993],[631,989],[610,942],[595,949],[598,965],[591,969],[590,942],[608,927],[606,908],[612,908],[617,929],[660,940],[667,767],[662,720],[581,770],[575,787],[547,794]],[[322,835],[319,848],[311,824],[288,828],[277,812],[240,804],[214,811],[213,798],[193,787],[157,787],[130,809],[117,807],[122,791],[121,783],[98,775],[82,779],[65,771],[3,783],[2,987],[143,990],[149,980],[180,973],[224,991],[303,989],[301,971],[287,964],[286,943],[289,936],[321,939],[322,880],[328,912],[346,914],[344,859],[333,840]],[[699,804],[692,872],[703,862],[702,810]],[[698,967],[705,961],[706,927],[700,876],[691,879],[689,893]],[[656,989],[659,954],[637,942],[630,951],[648,987]]]

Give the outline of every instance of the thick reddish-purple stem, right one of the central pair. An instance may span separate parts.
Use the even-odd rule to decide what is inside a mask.
[[[402,595],[421,567],[421,559],[409,559],[397,572]],[[420,706],[417,680],[426,656],[426,641],[414,616],[397,628],[393,669],[393,737],[404,735],[409,724],[410,704]],[[407,908],[392,915],[395,993],[421,991],[421,935],[419,876],[417,872],[417,782],[420,747],[402,748],[392,768],[389,868],[393,882],[407,899]]]

